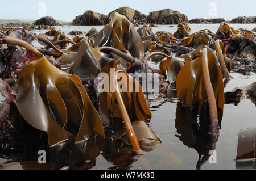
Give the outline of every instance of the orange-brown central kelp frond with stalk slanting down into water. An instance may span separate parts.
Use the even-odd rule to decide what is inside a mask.
[[[141,86],[125,71],[110,71],[105,76],[101,89],[100,117],[105,126],[112,122],[110,118],[122,117],[129,123],[130,119],[147,121],[151,116]],[[129,133],[129,129],[133,127],[131,124],[125,125]],[[129,137],[131,140],[130,133]],[[131,140],[131,143],[136,145],[136,141]]]

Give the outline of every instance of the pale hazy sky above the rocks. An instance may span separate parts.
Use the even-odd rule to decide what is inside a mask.
[[[0,19],[39,19],[40,2],[46,5],[46,15],[56,20],[72,21],[86,10],[108,14],[122,6],[129,6],[148,15],[151,11],[170,8],[193,18],[225,18],[231,20],[237,16],[255,16],[255,0],[10,0],[0,2]],[[209,7],[216,5],[216,16],[210,16]],[[42,6],[41,6],[42,7]],[[214,15],[214,13],[212,14]]]

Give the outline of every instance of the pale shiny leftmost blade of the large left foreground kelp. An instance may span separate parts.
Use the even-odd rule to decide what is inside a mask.
[[[44,59],[39,59],[39,61],[40,60],[47,61]],[[48,144],[50,146],[55,145],[60,141],[74,138],[71,133],[61,128],[60,124],[58,124],[57,121],[53,119],[51,112],[48,110],[44,100],[42,99],[42,96],[40,95],[40,89],[38,87],[40,85],[39,79],[38,77],[34,77],[35,64],[36,61],[25,66],[19,77],[18,95],[16,97],[16,102],[20,114],[30,125],[32,125],[32,127],[47,132]],[[40,69],[43,70],[41,67]],[[63,105],[63,102],[59,102],[58,104]],[[64,106],[60,106],[60,108],[61,107]],[[65,123],[67,122],[65,120],[67,119],[65,116],[67,115],[65,107],[63,111],[64,112],[62,112],[62,114],[64,115],[64,120],[61,122]]]

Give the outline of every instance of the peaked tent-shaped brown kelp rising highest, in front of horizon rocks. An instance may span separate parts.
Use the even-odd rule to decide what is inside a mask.
[[[117,49],[127,49],[131,56],[142,59],[144,46],[142,39],[129,20],[118,12],[110,14],[108,24],[95,38],[95,47],[109,46]]]

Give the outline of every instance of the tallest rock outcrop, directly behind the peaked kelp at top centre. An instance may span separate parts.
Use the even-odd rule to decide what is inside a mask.
[[[119,14],[126,16],[126,18],[133,24],[147,23],[146,15],[130,7],[120,7],[112,12],[118,12]],[[109,16],[112,12],[109,13]]]

